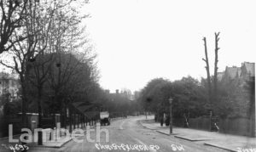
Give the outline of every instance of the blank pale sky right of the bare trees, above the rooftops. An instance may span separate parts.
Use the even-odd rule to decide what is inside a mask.
[[[253,0],[91,0],[84,12],[91,16],[85,24],[98,53],[100,83],[112,92],[141,89],[155,77],[205,77],[202,37],[213,66],[215,31],[221,32],[219,71],[255,60]]]

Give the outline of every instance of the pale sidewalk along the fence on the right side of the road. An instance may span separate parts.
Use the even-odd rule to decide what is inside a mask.
[[[143,127],[154,130],[155,132],[169,135],[169,127],[160,127],[160,123],[156,123],[154,120],[144,120],[140,121],[140,123]],[[239,151],[239,149],[255,149],[254,151],[256,151],[256,138],[247,138],[244,136],[207,132],[182,127],[173,127],[172,132],[172,136],[175,138],[183,138],[191,142],[200,141],[203,144],[218,147],[220,149],[227,149],[230,151]]]

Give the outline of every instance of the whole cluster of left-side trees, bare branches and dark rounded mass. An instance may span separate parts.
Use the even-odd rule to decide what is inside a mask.
[[[27,111],[38,112],[38,127],[42,127],[42,114],[66,115],[71,102],[98,99],[96,53],[80,24],[88,16],[79,12],[85,3],[0,1],[0,63],[20,77],[23,127]]]

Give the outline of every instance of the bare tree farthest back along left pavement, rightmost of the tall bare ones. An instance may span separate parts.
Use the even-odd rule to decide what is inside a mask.
[[[84,62],[84,57],[90,49],[85,48],[87,38],[84,37],[84,27],[81,27],[80,22],[88,15],[78,14],[73,8],[67,7],[65,10],[59,9],[56,11],[53,27],[51,28],[50,47],[52,53],[55,54],[55,64],[49,70],[48,83],[51,90],[54,92],[54,103],[61,104],[61,116],[64,119],[61,123],[66,127],[67,117],[67,86],[73,81],[73,76],[79,74],[79,66]],[[79,49],[83,48],[84,53],[80,53],[79,59],[76,59],[75,54],[78,54]],[[80,80],[81,81],[81,80]]]

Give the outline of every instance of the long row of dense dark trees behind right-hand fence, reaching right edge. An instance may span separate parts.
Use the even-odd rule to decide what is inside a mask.
[[[139,101],[144,110],[154,112],[160,117],[169,115],[169,98],[172,98],[173,117],[182,118],[184,115],[191,118],[209,115],[226,117],[247,117],[253,113],[254,79],[247,81],[245,86],[234,86],[234,83],[223,85],[218,82],[218,96],[214,104],[208,100],[207,79],[201,82],[191,76],[170,82],[163,78],[155,78],[148,82],[140,93]]]

